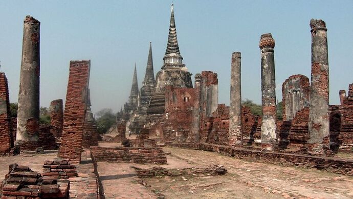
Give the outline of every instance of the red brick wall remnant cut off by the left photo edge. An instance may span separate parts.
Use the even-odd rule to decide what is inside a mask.
[[[0,154],[7,154],[13,147],[9,88],[5,73],[0,73]]]

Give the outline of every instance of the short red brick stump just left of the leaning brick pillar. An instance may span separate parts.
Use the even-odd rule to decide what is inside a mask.
[[[64,123],[64,115],[62,111],[62,99],[55,99],[50,103],[50,132],[55,136],[56,140],[61,137],[62,125]]]

